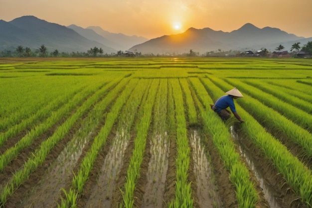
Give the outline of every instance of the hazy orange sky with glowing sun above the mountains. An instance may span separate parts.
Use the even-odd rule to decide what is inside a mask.
[[[0,0],[0,19],[33,15],[48,22],[155,38],[245,23],[312,37],[312,0]]]

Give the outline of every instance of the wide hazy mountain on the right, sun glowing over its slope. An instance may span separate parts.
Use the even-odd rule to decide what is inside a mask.
[[[280,44],[285,50],[290,50],[295,42],[306,44],[309,38],[289,34],[278,28],[264,27],[262,29],[251,23],[246,23],[232,32],[215,31],[210,28],[189,28],[185,32],[175,35],[164,35],[135,45],[131,51],[143,54],[188,53],[190,49],[203,54],[205,52],[229,50],[258,50],[267,48],[274,51]]]

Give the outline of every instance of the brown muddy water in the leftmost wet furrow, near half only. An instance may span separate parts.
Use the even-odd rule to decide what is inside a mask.
[[[65,186],[67,179],[78,161],[82,150],[91,138],[91,132],[85,138],[74,138],[64,148],[55,162],[51,164],[40,182],[32,189],[24,202],[27,208],[55,207],[60,196],[60,189]]]

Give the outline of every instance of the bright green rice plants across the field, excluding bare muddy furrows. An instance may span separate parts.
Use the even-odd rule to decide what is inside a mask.
[[[311,170],[294,160],[290,151],[266,132],[266,126],[274,126],[273,130],[288,135],[305,149],[307,155],[311,155],[311,145],[305,145],[310,144],[305,141],[311,139],[312,128],[309,117],[312,111],[309,105],[312,101],[312,61],[309,59],[143,57],[14,58],[11,63],[9,61],[0,59],[0,147],[4,150],[1,152],[1,161],[5,161],[0,171],[57,120],[63,118],[64,123],[57,126],[54,134],[42,142],[39,149],[31,152],[32,156],[25,160],[21,169],[12,170],[13,176],[0,188],[0,207],[41,166],[48,153],[64,134],[70,132],[74,123],[83,119],[84,112],[98,109],[95,106],[102,106],[104,101],[105,106],[111,103],[107,111],[106,107],[98,109],[105,121],[99,126],[98,135],[93,138],[94,143],[77,164],[80,168],[73,181],[69,182],[71,187],[59,190],[60,195],[63,193],[65,196],[59,199],[60,207],[78,206],[94,161],[106,145],[108,135],[114,133],[113,125],[123,124],[128,125],[128,132],[135,133],[135,147],[125,176],[127,182],[120,190],[123,201],[120,207],[135,205],[134,192],[141,177],[140,169],[146,157],[144,151],[149,134],[163,132],[164,128],[176,141],[175,196],[164,203],[169,207],[192,207],[196,190],[191,189],[191,182],[188,181],[191,149],[187,127],[200,122],[203,131],[211,136],[236,189],[237,207],[257,207],[259,193],[255,190],[254,182],[250,181],[251,172],[241,162],[228,126],[209,107],[213,100],[233,85],[237,85],[245,95],[244,100],[237,101],[237,109],[246,120],[242,129],[250,135],[255,146],[265,150],[266,157],[276,164],[298,199],[306,205],[312,204]],[[120,87],[116,80],[128,84]],[[111,87],[103,90],[105,86]],[[84,95],[89,88],[95,97],[92,93]],[[136,95],[131,94],[132,89],[136,89]],[[72,98],[79,96],[82,101],[71,104],[71,101],[75,101]],[[136,101],[131,103],[134,98]],[[71,108],[62,110],[67,105],[71,105]],[[128,109],[128,105],[132,107]],[[252,105],[257,105],[257,108],[253,109]],[[166,112],[161,112],[165,109]],[[267,111],[263,112],[262,109]],[[126,114],[127,111],[135,112]],[[41,128],[53,115],[57,115],[57,118]],[[165,120],[160,120],[157,115],[165,117]],[[291,127],[293,130],[289,130]],[[29,134],[33,132],[38,134],[30,137]],[[6,144],[11,138],[17,140],[15,146]],[[24,141],[25,138],[30,138],[29,143]],[[280,151],[271,148],[271,143],[278,146]],[[17,151],[11,154],[11,150]],[[285,157],[281,159],[281,155]],[[287,163],[290,163],[289,168],[283,167]],[[298,185],[296,180],[300,180],[301,184]]]

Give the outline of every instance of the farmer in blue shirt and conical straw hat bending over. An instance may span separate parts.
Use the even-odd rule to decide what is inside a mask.
[[[244,120],[238,115],[234,105],[234,99],[239,97],[243,97],[242,93],[238,91],[235,87],[226,92],[228,95],[224,95],[220,97],[214,105],[210,104],[211,109],[216,112],[223,121],[228,120],[231,117],[231,112],[228,111],[226,108],[230,107],[231,111],[233,112],[235,118],[239,120],[241,123],[244,123]]]

